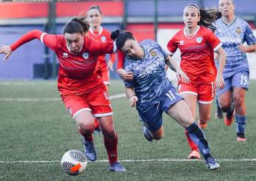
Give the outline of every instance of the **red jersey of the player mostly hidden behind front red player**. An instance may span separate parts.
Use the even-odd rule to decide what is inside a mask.
[[[95,40],[98,40],[98,41],[111,41],[112,40],[110,38],[110,32],[103,27],[100,27],[100,30],[98,32],[94,32],[90,28],[87,33],[87,36],[89,36]],[[110,60],[112,61],[113,64],[115,63],[115,53],[110,54]],[[107,66],[106,55],[99,55],[98,61],[101,66]]]

